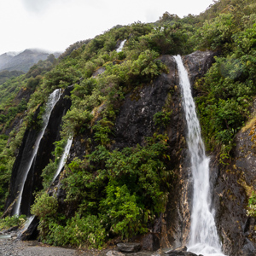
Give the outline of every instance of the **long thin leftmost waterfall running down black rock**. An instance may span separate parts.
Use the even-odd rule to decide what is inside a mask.
[[[36,154],[38,153],[38,147],[39,147],[42,137],[44,136],[44,131],[46,129],[46,126],[48,125],[50,113],[51,113],[52,109],[55,107],[55,103],[59,101],[60,96],[61,96],[61,89],[56,89],[54,92],[52,92],[50,94],[48,102],[46,103],[45,113],[43,115],[43,128],[38,134],[36,143],[33,147],[34,149],[32,151],[31,158],[27,162],[26,172],[20,182],[20,192],[19,192],[17,201],[15,203],[15,210],[14,210],[15,215],[20,215],[20,203],[21,203],[21,199],[22,199],[22,193],[23,193],[25,182],[26,182],[27,174],[32,166],[32,162],[33,162]]]

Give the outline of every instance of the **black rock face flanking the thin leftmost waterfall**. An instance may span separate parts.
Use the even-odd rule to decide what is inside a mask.
[[[30,168],[26,177],[26,183],[23,190],[22,201],[20,205],[20,214],[30,214],[30,207],[34,201],[33,192],[42,187],[41,173],[45,166],[48,165],[49,160],[52,159],[51,152],[54,150],[56,140],[60,139],[61,130],[61,118],[67,113],[67,110],[71,107],[71,101],[65,97],[70,95],[70,91],[73,88],[67,88],[61,95],[60,100],[55,104],[55,108],[52,110],[49,117],[49,123],[44,132],[44,137],[38,148],[38,154],[33,160],[32,167]],[[39,113],[35,113],[35,118]],[[26,162],[32,154],[33,145],[37,139],[38,131],[34,129],[28,129],[25,132],[23,141],[20,146],[19,154],[15,160],[13,166],[12,177],[10,182],[9,197],[6,201],[6,209],[12,205],[15,201],[19,191],[19,184],[21,178],[26,172]],[[9,209],[11,211],[12,209]]]

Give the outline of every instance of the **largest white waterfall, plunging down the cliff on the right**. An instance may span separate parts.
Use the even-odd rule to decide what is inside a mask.
[[[183,93],[183,109],[188,126],[187,143],[190,153],[191,169],[194,179],[193,207],[189,251],[197,254],[224,255],[211,211],[212,195],[209,181],[209,158],[205,154],[205,146],[201,139],[201,128],[195,113],[189,76],[183,66],[180,55],[174,56],[177,62],[179,84]]]

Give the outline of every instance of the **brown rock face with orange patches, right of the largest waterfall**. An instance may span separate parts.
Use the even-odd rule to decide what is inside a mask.
[[[219,168],[215,193],[216,218],[222,236],[224,252],[229,255],[255,255],[254,218],[247,216],[247,197],[256,183],[256,150],[251,127],[236,135],[234,158],[228,166]]]

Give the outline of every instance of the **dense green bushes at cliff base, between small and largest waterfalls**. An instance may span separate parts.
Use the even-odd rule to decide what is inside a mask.
[[[44,241],[102,247],[107,237],[125,239],[147,232],[164,210],[173,179],[166,154],[166,137],[155,135],[145,147],[109,152],[99,145],[84,160],[74,159],[62,183],[67,203],[77,205],[75,216],[56,216],[57,201],[46,193],[32,206]],[[84,241],[84,236],[90,239]]]

